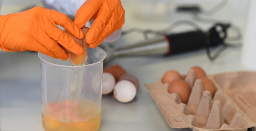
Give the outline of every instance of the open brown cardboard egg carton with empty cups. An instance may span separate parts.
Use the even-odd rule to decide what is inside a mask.
[[[193,131],[239,130],[256,127],[256,72],[228,72],[209,75],[217,91],[213,98],[195,79],[193,70],[184,76],[192,91],[187,104],[168,84],[157,81],[145,85],[171,128]]]

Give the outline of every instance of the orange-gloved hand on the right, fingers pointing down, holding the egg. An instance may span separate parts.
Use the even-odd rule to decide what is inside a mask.
[[[120,0],[86,0],[77,10],[74,23],[81,28],[88,20],[94,22],[85,40],[89,47],[94,48],[123,26],[125,10]]]

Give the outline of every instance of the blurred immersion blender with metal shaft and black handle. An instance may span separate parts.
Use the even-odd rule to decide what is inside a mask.
[[[216,46],[223,43],[226,36],[221,37],[220,32],[216,31],[215,27],[216,25],[209,30],[211,31],[210,37],[208,37],[209,32],[205,33],[201,30],[195,30],[158,36],[153,39],[144,40],[117,49],[112,49],[106,43],[100,44],[99,46],[107,53],[107,57],[104,60],[106,63],[113,57],[118,56],[174,55],[205,48],[207,46],[207,40],[209,40],[209,46]]]

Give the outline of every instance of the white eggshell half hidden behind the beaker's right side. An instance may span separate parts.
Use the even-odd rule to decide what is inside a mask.
[[[102,74],[102,91],[101,94],[106,95],[113,91],[116,84],[115,77],[107,72]]]

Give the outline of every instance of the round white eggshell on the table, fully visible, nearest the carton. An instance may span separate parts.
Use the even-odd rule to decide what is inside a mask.
[[[122,80],[116,83],[114,87],[114,98],[119,102],[130,102],[136,96],[136,87],[135,85],[127,80]]]

